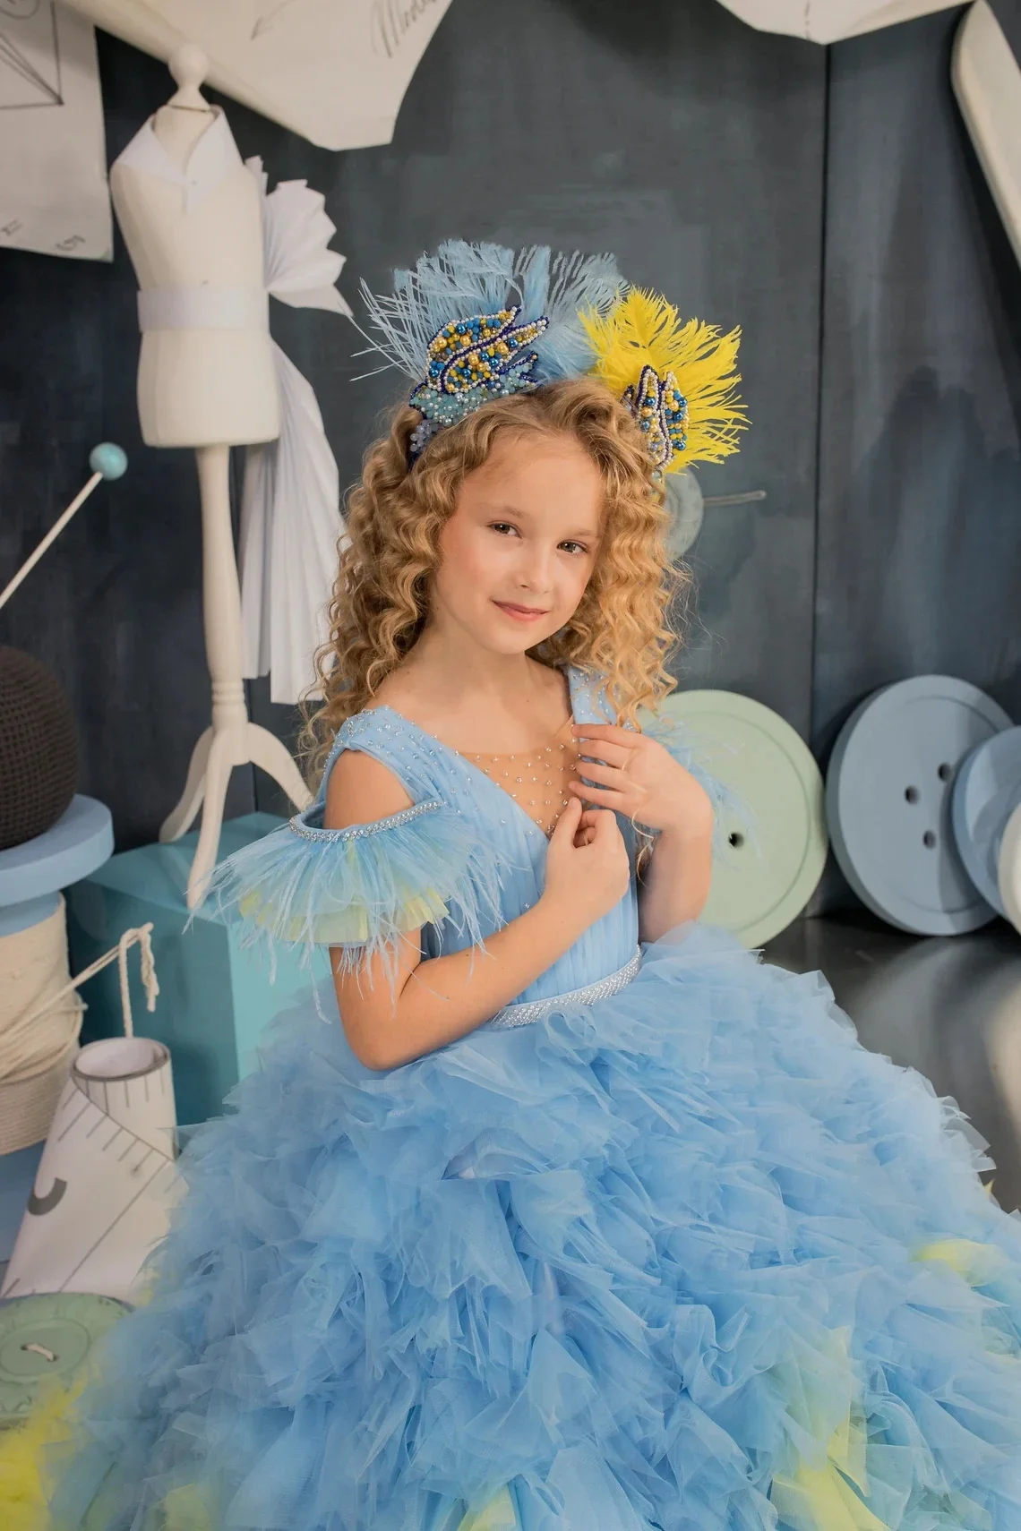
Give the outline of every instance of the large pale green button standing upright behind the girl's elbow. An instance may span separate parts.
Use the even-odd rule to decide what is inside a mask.
[[[732,690],[683,690],[663,703],[695,759],[747,805],[723,811],[727,848],[713,857],[700,919],[745,946],[779,935],[805,908],[827,863],[822,775],[802,736],[761,701]]]

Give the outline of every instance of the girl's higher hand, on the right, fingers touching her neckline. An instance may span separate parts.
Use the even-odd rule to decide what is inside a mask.
[[[597,782],[572,781],[569,790],[599,808],[614,808],[651,830],[712,828],[713,807],[706,788],[670,752],[632,729],[615,723],[576,723],[571,727],[579,755],[597,755],[605,766],[579,758],[579,775]]]

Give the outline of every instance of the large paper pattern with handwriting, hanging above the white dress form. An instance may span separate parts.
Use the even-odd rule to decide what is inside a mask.
[[[389,144],[450,0],[72,0],[168,58],[194,43],[208,83],[321,149]]]

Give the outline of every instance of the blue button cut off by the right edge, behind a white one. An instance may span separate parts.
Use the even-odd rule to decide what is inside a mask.
[[[1007,819],[1021,804],[1021,729],[1004,729],[972,750],[951,795],[958,854],[986,903],[1006,914],[1000,896],[1000,848]]]

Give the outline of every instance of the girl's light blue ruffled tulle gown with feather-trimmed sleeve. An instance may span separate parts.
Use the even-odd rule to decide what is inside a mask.
[[[545,834],[481,770],[387,707],[343,749],[415,807],[329,833],[323,787],[234,857],[254,935],[435,954],[537,897]],[[632,879],[390,1072],[329,983],[279,1020],[188,1142],[60,1531],[1021,1528],[1021,1222],[977,1134],[819,974],[637,929]]]

